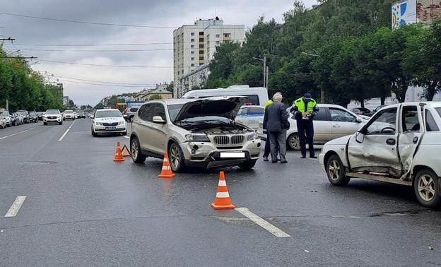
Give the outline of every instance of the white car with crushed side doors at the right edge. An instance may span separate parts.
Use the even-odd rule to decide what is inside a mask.
[[[378,111],[351,136],[329,141],[319,162],[329,182],[351,177],[413,186],[423,206],[441,202],[441,102],[406,102]]]

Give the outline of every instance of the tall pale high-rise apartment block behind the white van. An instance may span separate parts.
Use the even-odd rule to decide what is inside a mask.
[[[194,25],[182,25],[173,31],[173,93],[181,97],[187,93],[189,83],[182,78],[210,63],[216,45],[222,42],[245,41],[245,25],[223,25],[218,17],[196,20]]]

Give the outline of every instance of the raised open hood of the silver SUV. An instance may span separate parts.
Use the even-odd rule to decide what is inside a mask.
[[[248,97],[208,97],[187,102],[177,114],[175,121],[195,117],[218,116],[235,119],[240,107],[244,105]]]

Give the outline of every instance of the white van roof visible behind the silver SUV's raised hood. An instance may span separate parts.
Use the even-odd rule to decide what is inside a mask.
[[[206,98],[213,96],[240,95],[248,97],[247,105],[265,106],[268,102],[268,90],[264,87],[249,87],[249,85],[232,85],[228,88],[191,90],[181,98]]]

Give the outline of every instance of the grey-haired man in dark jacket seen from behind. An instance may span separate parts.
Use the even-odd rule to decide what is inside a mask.
[[[288,113],[282,102],[282,95],[276,93],[273,96],[274,104],[266,107],[264,115],[264,129],[269,133],[271,150],[271,162],[276,163],[277,144],[279,148],[281,163],[286,161],[286,129],[289,129]]]

